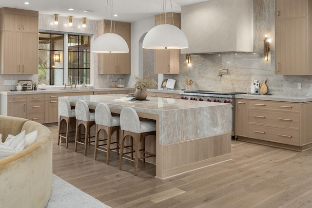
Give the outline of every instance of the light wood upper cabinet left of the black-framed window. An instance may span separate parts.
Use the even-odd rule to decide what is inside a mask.
[[[0,9],[0,74],[38,74],[37,11]]]

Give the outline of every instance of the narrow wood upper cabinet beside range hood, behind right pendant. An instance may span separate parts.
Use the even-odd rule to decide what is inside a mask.
[[[155,25],[172,24],[180,28],[180,14],[166,13],[155,16]],[[155,74],[179,74],[179,49],[155,50]]]

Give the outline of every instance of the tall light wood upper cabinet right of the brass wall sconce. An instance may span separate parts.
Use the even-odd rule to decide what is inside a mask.
[[[312,75],[312,0],[275,1],[275,74]]]

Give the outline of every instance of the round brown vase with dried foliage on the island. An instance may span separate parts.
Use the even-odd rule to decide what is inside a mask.
[[[153,74],[148,74],[143,78],[135,75],[133,80],[135,80],[135,84],[133,85],[133,92],[135,93],[135,98],[137,100],[145,100],[147,97],[146,89],[149,87],[155,87],[157,85],[155,79],[151,79]]]

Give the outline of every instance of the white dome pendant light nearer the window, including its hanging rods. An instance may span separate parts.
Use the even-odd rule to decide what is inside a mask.
[[[110,0],[111,3],[111,29],[109,33],[104,33],[100,35],[91,46],[91,52],[93,53],[129,53],[129,47],[127,42],[119,35],[112,32],[113,21],[112,21],[112,14],[114,13],[113,10],[113,1]],[[106,3],[106,13],[108,7],[108,0]],[[106,19],[106,14],[105,14]],[[115,29],[115,22],[114,22],[114,29]],[[105,31],[105,21],[104,21],[104,31]]]

